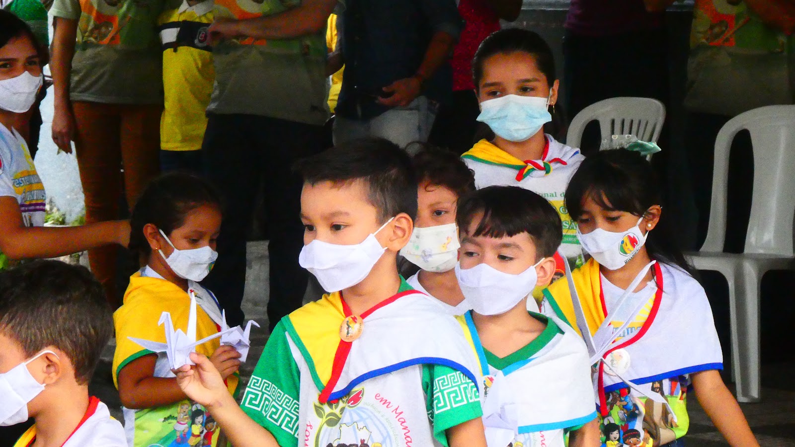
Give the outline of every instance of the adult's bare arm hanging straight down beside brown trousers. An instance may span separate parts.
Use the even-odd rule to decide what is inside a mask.
[[[52,116],[52,141],[64,152],[72,152],[75,134],[75,119],[69,101],[69,78],[72,72],[72,56],[75,56],[77,21],[55,17],[55,34],[52,37],[52,90],[55,105]]]

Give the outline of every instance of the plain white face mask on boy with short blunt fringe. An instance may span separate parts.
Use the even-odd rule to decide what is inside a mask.
[[[504,273],[485,263],[462,270],[458,263],[456,278],[472,310],[481,315],[499,315],[514,309],[533,292],[538,282],[536,267],[544,259],[520,274]]]

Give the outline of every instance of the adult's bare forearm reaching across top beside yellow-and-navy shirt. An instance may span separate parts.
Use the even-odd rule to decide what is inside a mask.
[[[219,17],[210,26],[213,41],[235,37],[255,39],[293,39],[317,33],[326,26],[337,0],[304,0],[301,6],[280,14],[229,20]]]

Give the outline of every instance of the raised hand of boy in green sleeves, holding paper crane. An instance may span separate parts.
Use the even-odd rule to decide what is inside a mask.
[[[188,398],[207,408],[218,406],[219,402],[231,398],[226,383],[223,383],[221,375],[210,359],[191,352],[191,360],[196,365],[183,365],[173,370],[176,374],[176,384],[185,395],[188,395]]]

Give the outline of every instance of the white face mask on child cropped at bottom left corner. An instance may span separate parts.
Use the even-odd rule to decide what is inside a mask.
[[[28,363],[48,352],[58,356],[52,351],[42,351],[0,374],[0,396],[3,402],[0,405],[0,426],[13,426],[28,420],[28,402],[45,390],[45,386],[38,383],[28,371]]]

